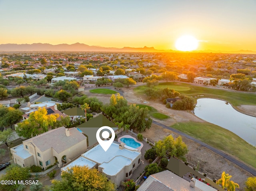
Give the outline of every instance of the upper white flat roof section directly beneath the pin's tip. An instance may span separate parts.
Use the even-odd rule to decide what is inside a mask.
[[[141,155],[140,152],[136,150],[128,150],[124,148],[123,150],[119,149],[119,144],[112,143],[111,146],[108,148],[108,150],[105,152],[102,147],[98,144],[94,148],[88,150],[82,156],[91,159],[92,161],[95,161],[97,163],[104,163],[109,162],[116,156],[123,156],[128,159],[136,159],[139,155]],[[99,157],[100,156],[100,157]]]

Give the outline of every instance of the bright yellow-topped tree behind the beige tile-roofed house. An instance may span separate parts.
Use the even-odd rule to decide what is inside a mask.
[[[29,118],[23,122],[18,123],[16,132],[18,136],[25,138],[31,138],[37,134],[47,132],[52,128],[55,128],[56,120],[59,114],[47,115],[46,108],[38,108],[37,111],[31,112]]]

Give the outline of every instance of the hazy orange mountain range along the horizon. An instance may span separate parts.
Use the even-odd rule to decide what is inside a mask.
[[[133,47],[100,47],[90,46],[83,43],[75,44],[58,44],[52,45],[48,43],[33,44],[0,44],[0,52],[19,52],[19,51],[95,51],[95,52],[182,52],[174,50],[158,50],[154,47],[133,48]],[[201,50],[192,51],[195,53],[236,53],[236,54],[256,54],[256,51],[240,50],[240,51],[212,51]]]

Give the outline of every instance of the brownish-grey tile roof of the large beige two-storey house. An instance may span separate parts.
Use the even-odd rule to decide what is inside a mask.
[[[52,148],[57,153],[61,153],[71,146],[86,140],[86,136],[79,132],[75,127],[70,128],[69,130],[70,136],[66,136],[65,127],[60,127],[25,140],[23,143],[32,142],[41,152]]]

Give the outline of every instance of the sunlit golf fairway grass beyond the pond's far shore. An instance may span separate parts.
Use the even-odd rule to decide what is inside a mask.
[[[196,86],[188,83],[182,82],[167,82],[159,83],[158,86],[154,87],[156,89],[166,88],[174,89],[181,94],[188,96],[204,95],[208,98],[219,98],[230,102],[233,106],[239,105],[256,105],[256,95],[254,93],[246,93],[239,91],[226,91],[219,88],[207,88],[204,86]],[[143,91],[146,89],[146,85],[139,86],[134,89],[134,91],[140,95],[144,94]],[[202,97],[200,97],[202,98]]]

